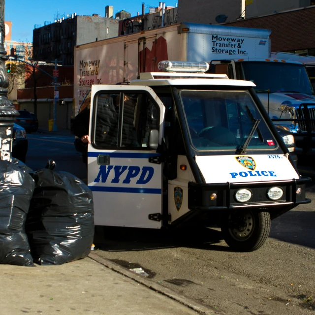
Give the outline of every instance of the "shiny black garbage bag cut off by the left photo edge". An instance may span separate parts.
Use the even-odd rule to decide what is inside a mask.
[[[0,160],[0,263],[33,266],[25,221],[34,190],[31,175]]]

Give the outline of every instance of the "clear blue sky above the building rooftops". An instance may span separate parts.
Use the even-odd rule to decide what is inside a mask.
[[[54,16],[58,14],[92,15],[94,13],[105,16],[105,6],[114,6],[114,14],[126,10],[134,16],[141,13],[142,2],[147,6],[158,6],[158,0],[5,0],[5,21],[12,22],[12,40],[32,42],[35,24],[41,26],[45,21],[54,22]],[[175,6],[176,0],[166,2],[166,5]]]

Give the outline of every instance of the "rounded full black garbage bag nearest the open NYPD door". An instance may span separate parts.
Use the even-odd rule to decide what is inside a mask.
[[[32,176],[26,232],[34,262],[61,265],[88,256],[94,238],[92,191],[67,172],[42,169]]]

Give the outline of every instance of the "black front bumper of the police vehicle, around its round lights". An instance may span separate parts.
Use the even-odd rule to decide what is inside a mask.
[[[305,184],[311,178],[301,177],[297,180],[277,181],[277,182],[253,182],[253,183],[218,183],[218,184],[198,184],[189,182],[188,184],[188,208],[189,210],[209,211],[228,210],[237,208],[265,208],[284,207],[291,209],[299,204],[310,203],[311,199],[305,197]],[[280,187],[284,190],[284,195],[277,201],[270,200],[267,191],[271,187]],[[297,194],[297,189],[302,189],[301,194]],[[249,189],[252,198],[249,202],[238,202],[235,193],[239,189]],[[217,198],[211,200],[211,195],[216,194]]]

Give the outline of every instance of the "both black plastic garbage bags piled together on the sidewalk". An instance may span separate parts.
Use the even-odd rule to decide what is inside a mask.
[[[0,263],[60,265],[94,238],[92,191],[77,177],[0,160]]]

